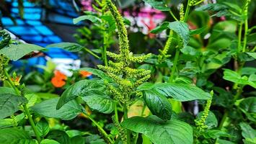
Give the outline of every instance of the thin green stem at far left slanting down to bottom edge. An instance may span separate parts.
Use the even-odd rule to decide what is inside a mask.
[[[4,70],[4,75],[7,77],[7,81],[8,83],[12,86],[12,89],[14,89],[14,91],[16,92],[16,94],[18,96],[21,96],[21,93],[19,91],[19,89],[17,89],[17,86],[15,86],[13,84],[12,78],[9,76],[9,73],[7,73],[7,71]],[[41,142],[41,138],[40,138],[40,134],[37,130],[37,127],[35,127],[35,122],[34,120],[32,120],[31,114],[30,114],[30,110],[27,109],[27,104],[22,104],[23,108],[24,108],[24,112],[27,115],[28,121],[30,122],[30,125],[32,127],[32,130],[35,132],[35,137],[37,138],[38,143]]]

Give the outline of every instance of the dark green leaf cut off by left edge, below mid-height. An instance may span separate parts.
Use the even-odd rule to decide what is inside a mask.
[[[14,112],[19,110],[19,105],[27,102],[22,96],[15,96],[13,94],[1,94],[0,95],[0,120],[8,117]]]

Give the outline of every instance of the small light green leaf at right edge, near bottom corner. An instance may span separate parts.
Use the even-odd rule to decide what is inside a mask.
[[[244,122],[239,123],[239,125],[242,129],[242,136],[244,138],[256,138],[256,130],[254,130],[250,125]]]

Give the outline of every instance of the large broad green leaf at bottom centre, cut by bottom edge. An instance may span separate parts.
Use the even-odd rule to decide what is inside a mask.
[[[164,122],[159,117],[152,115],[149,117],[131,117],[120,125],[146,135],[155,144],[193,143],[192,127],[180,120]]]

